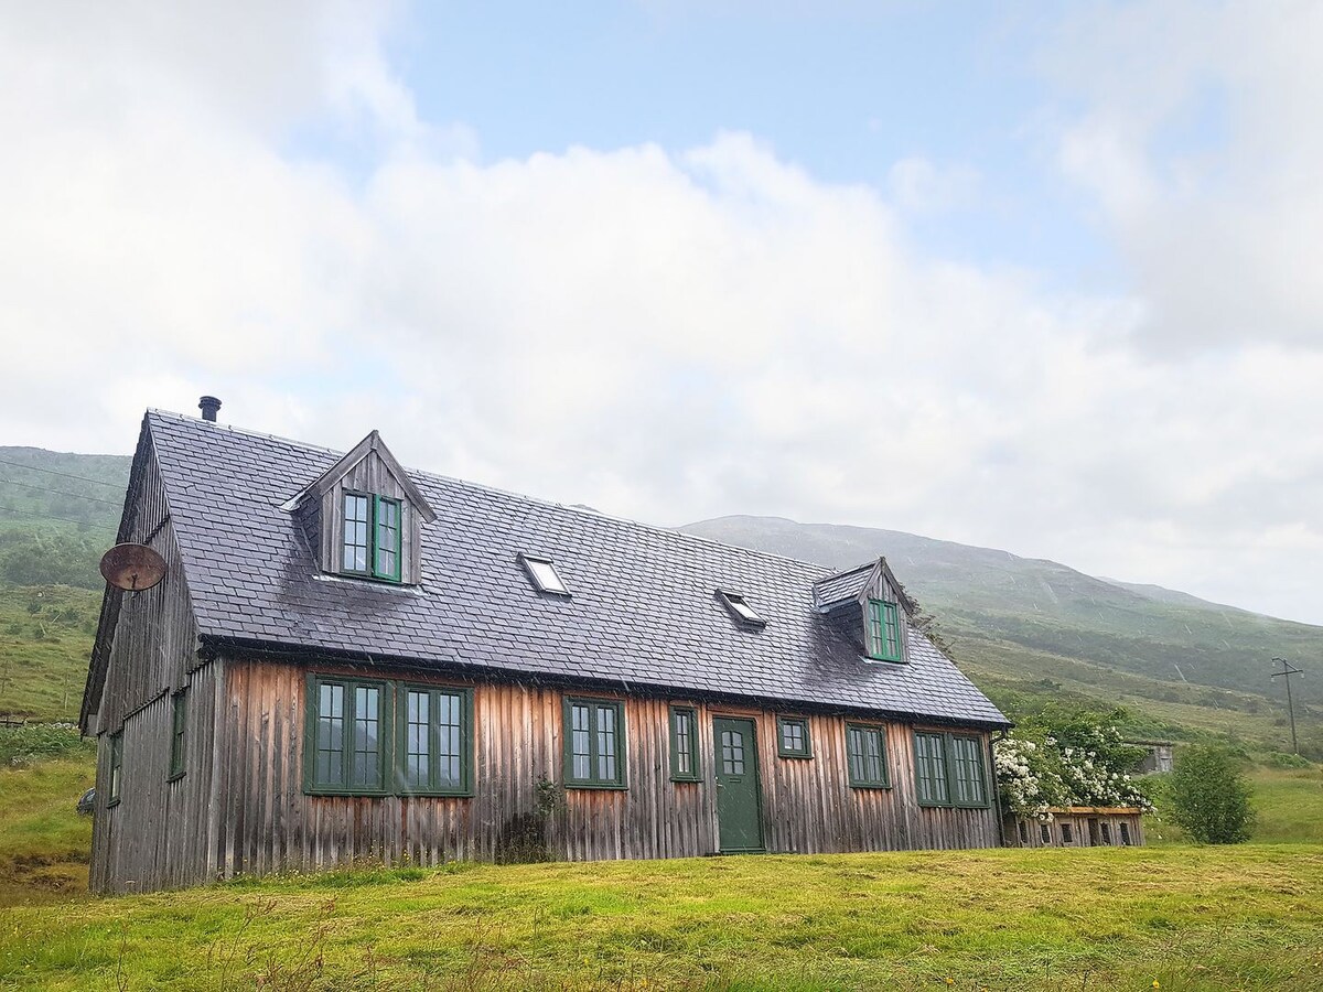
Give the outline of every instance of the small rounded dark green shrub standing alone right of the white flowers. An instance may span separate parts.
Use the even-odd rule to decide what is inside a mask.
[[[1224,749],[1191,745],[1176,754],[1168,787],[1172,821],[1201,844],[1249,840],[1250,787]]]

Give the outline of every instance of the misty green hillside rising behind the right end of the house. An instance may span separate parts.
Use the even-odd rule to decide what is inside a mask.
[[[1207,603],[1158,586],[1119,585],[1052,561],[897,530],[720,517],[680,528],[794,558],[849,567],[885,554],[938,632],[982,684],[1020,694],[1122,701],[1154,733],[1232,727],[1286,742],[1274,655],[1323,675],[1323,628]],[[1297,717],[1314,742],[1323,679],[1297,685]],[[1323,745],[1323,739],[1312,746]]]

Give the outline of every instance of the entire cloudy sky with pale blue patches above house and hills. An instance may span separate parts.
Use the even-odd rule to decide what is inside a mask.
[[[8,4],[0,443],[146,406],[1323,623],[1323,4]]]

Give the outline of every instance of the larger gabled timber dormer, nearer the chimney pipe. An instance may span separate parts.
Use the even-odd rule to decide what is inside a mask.
[[[390,448],[372,431],[287,509],[331,575],[418,585],[422,525],[435,511]]]

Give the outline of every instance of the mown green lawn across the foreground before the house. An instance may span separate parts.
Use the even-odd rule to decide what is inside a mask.
[[[1316,988],[1323,848],[456,865],[19,907],[17,988]]]

